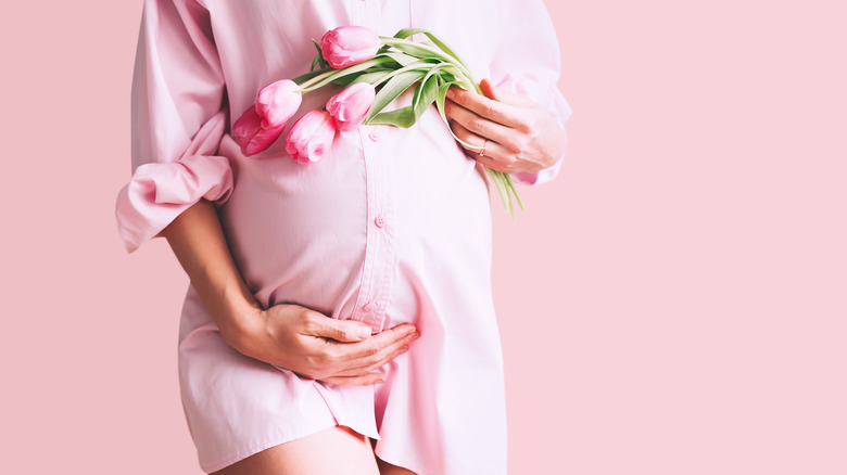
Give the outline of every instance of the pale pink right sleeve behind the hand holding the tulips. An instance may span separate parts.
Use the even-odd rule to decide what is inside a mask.
[[[571,108],[558,89],[559,42],[553,22],[542,0],[506,0],[500,41],[491,63],[492,82],[513,92],[528,95],[551,112],[564,129]],[[553,180],[562,157],[536,174],[514,174],[521,184]]]

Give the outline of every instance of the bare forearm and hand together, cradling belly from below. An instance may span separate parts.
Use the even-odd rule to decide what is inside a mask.
[[[418,337],[404,324],[370,335],[370,326],[298,305],[263,310],[244,283],[215,205],[201,200],[162,231],[191,278],[220,336],[236,350],[304,377],[345,386],[384,381],[375,371]]]

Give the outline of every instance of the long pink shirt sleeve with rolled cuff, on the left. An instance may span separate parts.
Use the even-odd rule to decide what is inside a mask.
[[[229,161],[216,155],[224,95],[208,12],[194,0],[147,0],[132,77],[132,177],[115,207],[127,251],[201,198],[229,196]]]

